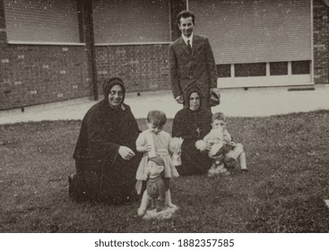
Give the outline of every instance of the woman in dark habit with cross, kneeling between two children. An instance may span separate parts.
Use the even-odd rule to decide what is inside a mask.
[[[198,175],[207,173],[212,165],[208,157],[209,144],[198,142],[210,132],[212,113],[201,108],[200,91],[192,87],[187,94],[187,108],[179,110],[174,118],[172,136],[182,137],[182,166],[177,167],[180,175]]]

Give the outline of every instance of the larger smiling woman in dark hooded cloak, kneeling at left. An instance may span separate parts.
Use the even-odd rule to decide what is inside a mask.
[[[103,91],[104,100],[83,117],[69,193],[77,201],[126,203],[134,198],[134,175],[142,158],[135,151],[140,130],[124,104],[124,82],[108,79]]]

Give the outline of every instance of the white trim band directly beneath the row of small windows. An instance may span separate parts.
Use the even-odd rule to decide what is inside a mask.
[[[218,78],[218,88],[309,85],[311,74]]]

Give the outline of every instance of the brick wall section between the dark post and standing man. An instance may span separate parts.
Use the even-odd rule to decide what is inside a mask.
[[[127,91],[166,90],[169,85],[168,44],[96,47],[99,82],[118,76]],[[101,89],[101,84],[99,84]],[[101,90],[100,90],[101,92]]]

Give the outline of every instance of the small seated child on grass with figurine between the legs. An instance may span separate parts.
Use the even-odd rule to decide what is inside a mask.
[[[203,138],[203,141],[212,143],[210,157],[214,159],[214,162],[209,170],[210,176],[219,173],[229,174],[229,171],[223,167],[223,164],[232,165],[237,160],[241,172],[247,172],[246,152],[241,143],[235,143],[233,141],[227,130],[227,125],[228,122],[223,113],[218,112],[213,114],[212,131]]]

